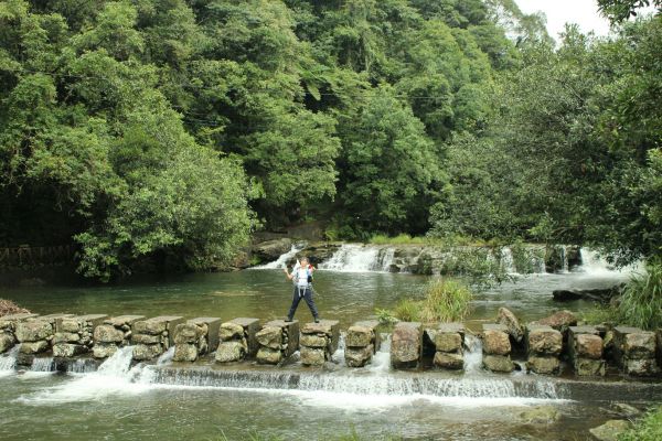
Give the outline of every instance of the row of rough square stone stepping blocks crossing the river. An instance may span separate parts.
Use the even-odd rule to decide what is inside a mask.
[[[333,320],[303,324],[282,320],[260,324],[255,318],[224,320],[186,320],[180,315],[6,315],[0,318],[0,353],[15,354],[19,368],[39,362],[49,369],[93,369],[98,364],[95,359],[108,358],[127,347],[122,353],[129,351],[134,363],[153,363],[171,349],[178,366],[195,363],[197,367],[206,364],[214,369],[236,369],[237,364],[243,364],[273,369],[292,365],[325,372],[333,370],[333,364],[363,368],[374,363],[384,338],[376,321],[356,322],[343,333]],[[563,374],[566,378],[574,374],[589,380],[605,376],[653,380],[662,377],[662,330],[569,325],[562,333],[558,327],[533,322],[521,326],[522,333],[515,335],[513,326],[485,323],[474,334],[462,323],[399,322],[393,327],[389,348],[380,352],[378,363],[389,369],[406,370],[403,375],[461,370],[470,359],[467,366],[477,366],[470,368],[472,372],[482,368],[506,376],[516,368],[547,376]],[[344,347],[339,347],[341,333]],[[479,348],[467,352],[467,342],[476,342],[477,337]],[[342,355],[334,357],[337,351]],[[471,357],[467,358],[469,353]]]

